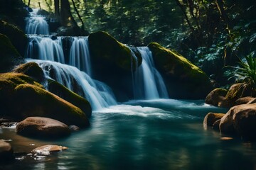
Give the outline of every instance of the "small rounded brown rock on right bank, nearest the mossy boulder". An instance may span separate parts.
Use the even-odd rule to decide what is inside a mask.
[[[214,89],[206,96],[206,103],[213,106],[218,106],[218,103],[223,101],[223,97],[225,98],[227,93],[228,91],[226,89]]]

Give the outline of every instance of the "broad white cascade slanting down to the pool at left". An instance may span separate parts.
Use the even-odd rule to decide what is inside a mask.
[[[110,87],[91,79],[85,72],[81,72],[76,67],[43,60],[28,60],[28,62],[36,62],[43,69],[46,77],[55,79],[76,94],[87,98],[91,103],[92,111],[117,104]]]

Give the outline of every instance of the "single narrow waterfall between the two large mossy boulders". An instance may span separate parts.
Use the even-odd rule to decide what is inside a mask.
[[[155,99],[169,98],[164,80],[154,67],[154,60],[149,47],[137,47],[142,55],[142,64],[134,72],[134,98]]]

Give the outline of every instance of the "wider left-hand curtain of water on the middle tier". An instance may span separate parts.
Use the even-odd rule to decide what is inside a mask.
[[[29,35],[26,58],[65,63],[61,37],[53,40],[48,36]]]

